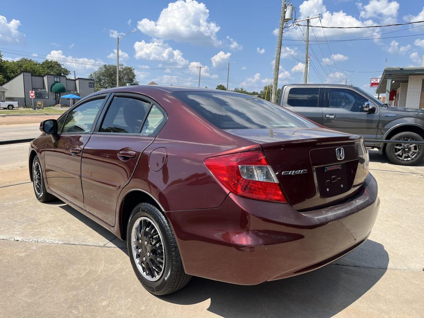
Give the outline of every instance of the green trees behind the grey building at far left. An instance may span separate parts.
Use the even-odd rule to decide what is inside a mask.
[[[6,61],[0,54],[0,84],[14,78],[20,72],[31,72],[32,75],[45,74],[69,75],[70,71],[58,61],[45,60],[42,63],[32,59],[22,58],[17,61]]]

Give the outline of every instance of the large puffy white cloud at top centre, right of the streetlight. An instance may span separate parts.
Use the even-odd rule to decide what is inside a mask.
[[[149,36],[173,39],[201,45],[221,46],[216,33],[220,27],[209,21],[209,10],[204,3],[178,0],[163,9],[157,21],[143,19],[137,28]]]

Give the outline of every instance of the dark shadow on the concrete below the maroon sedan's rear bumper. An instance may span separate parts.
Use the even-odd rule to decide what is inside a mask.
[[[383,245],[368,240],[356,251],[361,248],[364,251],[352,252],[347,262],[338,260],[310,273],[254,286],[193,277],[182,290],[160,298],[183,305],[210,298],[208,310],[227,318],[331,317],[365,294],[387,270],[389,257]],[[232,265],[223,264],[223,271],[226,266]]]

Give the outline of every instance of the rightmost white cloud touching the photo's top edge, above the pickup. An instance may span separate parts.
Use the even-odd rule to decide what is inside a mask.
[[[362,3],[357,3],[357,7],[361,10],[360,18],[378,18],[384,21],[384,24],[396,23],[397,21],[399,3],[396,1],[371,0],[365,6]]]

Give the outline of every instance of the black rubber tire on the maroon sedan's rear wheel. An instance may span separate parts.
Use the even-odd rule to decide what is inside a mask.
[[[146,270],[146,273],[142,273],[142,263],[148,264],[148,262],[151,262],[150,259],[147,259],[146,261],[142,261],[142,257],[146,257],[148,254],[145,250],[143,251],[143,244],[146,246],[146,248],[151,248],[150,251],[152,251],[153,255],[154,249],[152,247],[152,244],[150,242],[153,241],[151,239],[149,243],[145,244],[147,240],[149,240],[149,236],[146,238],[143,236],[143,234],[136,234],[139,228],[137,228],[138,224],[140,224],[140,219],[142,221],[144,220],[147,224],[150,221],[151,224],[154,225],[154,229],[151,230],[151,227],[148,228],[148,235],[156,236],[154,240],[157,242],[157,238],[159,237],[162,241],[162,244],[158,244],[156,246],[162,246],[164,254],[164,265],[162,266],[163,270],[162,273],[155,273],[157,274],[156,281],[152,281],[150,279],[154,279],[154,277],[150,276],[150,279],[146,278],[149,277],[149,271]],[[137,224],[134,226],[134,224],[137,222]],[[145,224],[146,224],[145,223]],[[131,234],[133,233],[134,229],[134,238],[131,237]],[[146,228],[145,228],[146,229]],[[159,232],[160,236],[157,236],[155,232],[155,229]],[[144,231],[143,231],[144,232]],[[138,236],[135,236],[138,235]],[[144,237],[145,242],[139,242],[137,238]],[[144,240],[143,239],[143,240]],[[142,241],[143,241],[142,240]],[[154,244],[153,244],[154,245]],[[153,206],[150,203],[140,203],[138,204],[133,211],[131,212],[131,216],[128,221],[127,226],[127,246],[128,246],[128,255],[131,260],[131,265],[134,269],[134,273],[137,275],[138,280],[141,282],[143,287],[148,290],[148,292],[152,293],[153,295],[168,295],[170,293],[173,293],[185,285],[190,281],[191,275],[187,275],[184,272],[183,264],[181,261],[180,252],[177,246],[177,242],[175,239],[175,236],[173,234],[173,231],[170,227],[170,224],[168,223],[168,220],[165,218],[165,216],[160,212],[155,206]],[[139,252],[141,251],[141,252]],[[156,258],[157,255],[160,255],[160,252],[156,252]],[[149,255],[149,256],[150,256]],[[137,256],[140,262],[137,261]],[[160,266],[159,266],[160,267]],[[144,266],[146,268],[146,266]],[[150,268],[150,267],[148,267]],[[146,277],[145,277],[146,276]]]

